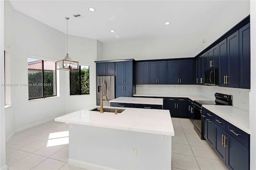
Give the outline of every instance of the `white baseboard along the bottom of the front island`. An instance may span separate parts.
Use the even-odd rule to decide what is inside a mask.
[[[109,168],[106,166],[101,166],[101,165],[92,164],[89,162],[84,162],[81,160],[74,160],[74,159],[68,159],[68,165],[86,169],[86,170],[114,170],[114,168]]]

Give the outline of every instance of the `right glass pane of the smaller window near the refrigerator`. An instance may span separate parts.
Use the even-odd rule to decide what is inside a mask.
[[[89,66],[81,65],[81,94],[89,94]]]

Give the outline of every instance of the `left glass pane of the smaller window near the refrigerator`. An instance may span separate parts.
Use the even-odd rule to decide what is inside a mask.
[[[70,95],[79,95],[79,70],[70,71]]]

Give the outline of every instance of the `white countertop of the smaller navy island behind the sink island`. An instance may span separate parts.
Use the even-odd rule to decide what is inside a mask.
[[[161,98],[145,98],[145,97],[118,97],[110,100],[113,103],[133,103],[133,104],[147,104],[147,105],[163,105]]]

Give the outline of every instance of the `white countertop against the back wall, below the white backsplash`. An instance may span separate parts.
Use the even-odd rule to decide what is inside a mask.
[[[208,101],[214,101],[215,99],[211,99],[208,97],[204,97],[201,95],[177,95],[177,94],[171,94],[171,95],[163,95],[163,94],[135,94],[133,96],[142,96],[142,97],[184,97],[189,98],[193,101],[195,100],[208,100]]]

